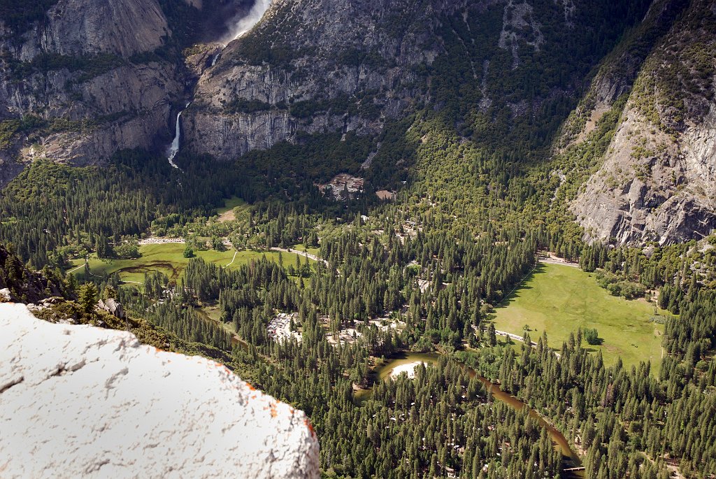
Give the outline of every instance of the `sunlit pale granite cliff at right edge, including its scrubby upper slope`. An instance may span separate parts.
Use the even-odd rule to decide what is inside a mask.
[[[589,240],[669,244],[716,228],[716,6],[662,1],[650,14],[659,21],[674,9],[682,17],[647,57],[622,54],[621,74],[595,84],[606,95],[596,95],[592,115],[622,92],[629,99],[599,170],[571,205]]]

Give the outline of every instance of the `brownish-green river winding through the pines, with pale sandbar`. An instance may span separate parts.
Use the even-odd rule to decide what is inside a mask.
[[[399,357],[389,359],[386,364],[384,364],[382,367],[379,367],[375,371],[375,375],[377,377],[377,380],[382,381],[385,378],[389,377],[390,374],[392,374],[392,372],[394,372],[396,369],[398,371],[410,369],[410,364],[418,364],[420,362],[425,364],[436,364],[439,357],[440,354],[405,353],[400,355]],[[515,410],[522,410],[525,407],[528,408],[529,415],[535,420],[537,420],[537,422],[542,427],[546,428],[547,432],[549,433],[549,437],[551,437],[551,440],[554,443],[555,449],[562,453],[562,456],[564,458],[563,468],[574,468],[581,466],[581,460],[579,459],[579,455],[577,455],[577,453],[572,450],[566,437],[564,437],[564,435],[559,432],[556,427],[549,424],[536,410],[533,410],[531,407],[526,405],[521,400],[518,400],[516,397],[509,395],[503,390],[500,390],[500,386],[498,384],[494,384],[493,382],[490,382],[489,379],[485,379],[484,377],[480,376],[475,372],[474,369],[469,368],[467,366],[465,366],[465,369],[468,369],[468,372],[471,377],[477,377],[478,379],[480,379],[480,381],[485,384],[485,388],[492,393],[493,397],[496,400],[504,402],[506,405],[511,406]],[[372,395],[372,390],[359,390],[356,392],[356,397],[359,400],[367,399],[367,397],[369,397],[370,395]],[[566,479],[583,479],[584,471],[563,472],[561,477]]]

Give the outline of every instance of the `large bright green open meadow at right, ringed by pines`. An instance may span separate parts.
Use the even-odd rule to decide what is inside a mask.
[[[648,359],[657,372],[662,362],[664,326],[650,321],[654,304],[611,296],[578,268],[539,265],[496,313],[496,329],[522,336],[528,324],[533,341],[546,331],[550,347],[556,349],[561,349],[570,332],[596,328],[602,344],[591,346],[586,340],[582,344],[601,349],[606,364],[614,364],[619,356],[624,364]]]

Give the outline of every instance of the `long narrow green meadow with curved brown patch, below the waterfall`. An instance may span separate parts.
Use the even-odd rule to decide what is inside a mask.
[[[189,263],[188,258],[184,258],[185,245],[181,243],[162,243],[147,244],[139,248],[142,256],[137,259],[100,259],[96,256],[89,258],[89,272],[96,276],[105,276],[115,272],[120,274],[120,279],[126,283],[139,283],[144,281],[145,272],[161,271],[169,276],[169,279],[178,280],[184,274],[184,269]],[[195,251],[195,256],[203,258],[204,261],[215,263],[228,268],[238,268],[242,264],[246,264],[251,260],[258,260],[261,256],[266,255],[270,261],[278,262],[279,253],[274,251]],[[236,257],[234,257],[236,253]],[[296,264],[295,253],[281,253],[283,256],[284,266]],[[233,263],[232,263],[233,260]],[[306,258],[301,257],[301,263],[305,263]],[[84,265],[84,259],[76,259],[72,261],[73,265],[69,271]],[[311,261],[313,263],[313,261]],[[73,271],[77,279],[84,279],[84,268]]]

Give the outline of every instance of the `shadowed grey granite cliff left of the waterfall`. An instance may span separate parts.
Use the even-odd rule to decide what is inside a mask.
[[[165,130],[184,85],[153,54],[172,34],[158,1],[59,0],[23,30],[0,19],[0,184],[32,158],[97,163]]]

